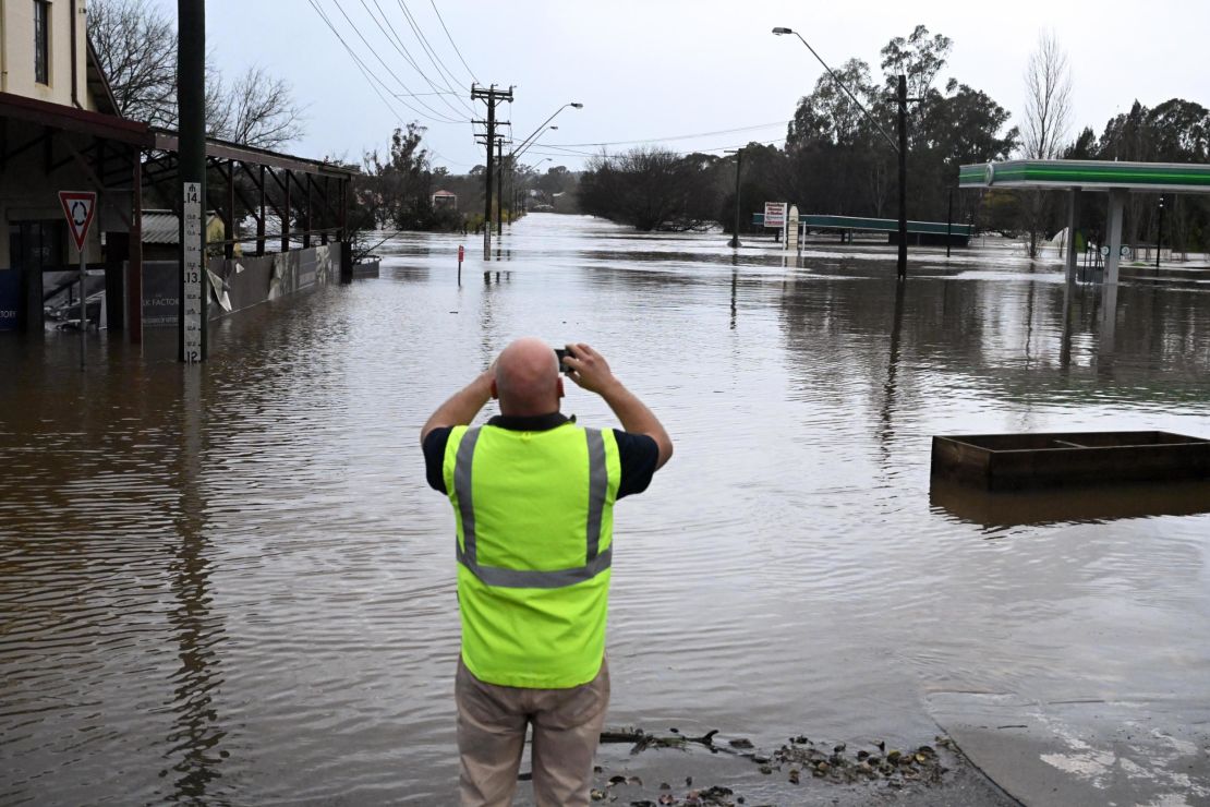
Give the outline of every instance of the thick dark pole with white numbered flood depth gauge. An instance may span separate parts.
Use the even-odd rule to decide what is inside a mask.
[[[178,358],[206,359],[206,0],[177,0],[180,278]]]

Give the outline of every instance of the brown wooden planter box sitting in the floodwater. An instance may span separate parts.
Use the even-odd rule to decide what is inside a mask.
[[[1204,479],[1210,440],[1169,432],[937,436],[933,475],[984,490]]]

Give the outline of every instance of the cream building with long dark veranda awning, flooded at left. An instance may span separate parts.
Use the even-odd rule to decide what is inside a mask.
[[[96,191],[83,247],[92,276],[87,294],[103,289],[109,328],[125,328],[138,341],[142,212],[179,202],[177,133],[119,114],[88,45],[85,6],[0,2],[0,330],[42,328],[54,276],[76,270],[58,191]],[[204,207],[223,225],[208,229],[209,252],[220,253],[208,269],[238,289],[234,299],[241,305],[296,288],[296,277],[323,277],[333,263],[342,276],[351,273],[346,209],[356,167],[214,138],[206,142],[206,166]],[[254,226],[241,236],[236,224],[243,220]],[[321,269],[311,272],[313,265]],[[237,271],[238,282],[227,282]]]

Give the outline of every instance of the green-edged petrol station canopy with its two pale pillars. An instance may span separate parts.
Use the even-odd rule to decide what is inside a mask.
[[[962,166],[958,188],[1058,190],[1067,192],[1067,226],[1074,232],[1085,191],[1108,195],[1105,282],[1118,282],[1122,219],[1130,194],[1210,194],[1210,166],[1172,162],[1108,162],[1100,160],[1008,160]],[[1076,253],[1067,250],[1067,277],[1076,272]]]

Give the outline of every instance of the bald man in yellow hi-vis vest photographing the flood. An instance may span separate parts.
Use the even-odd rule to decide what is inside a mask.
[[[519,339],[420,432],[428,484],[449,496],[457,529],[465,806],[511,803],[526,726],[537,803],[588,803],[610,693],[613,502],[646,490],[673,454],[668,432],[600,353],[567,345],[561,364],[622,430],[560,414],[560,357]],[[471,428],[491,398],[500,415]]]

